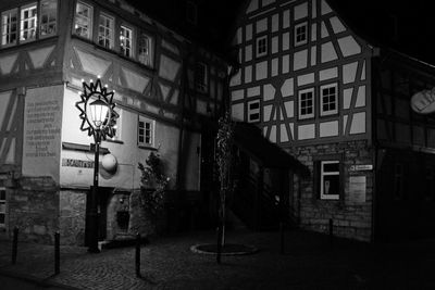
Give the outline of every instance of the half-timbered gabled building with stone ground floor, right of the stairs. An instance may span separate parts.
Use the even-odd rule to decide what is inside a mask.
[[[246,1],[232,116],[310,169],[275,189],[295,225],[363,241],[434,235],[435,123],[410,105],[434,67],[366,40],[333,8]]]

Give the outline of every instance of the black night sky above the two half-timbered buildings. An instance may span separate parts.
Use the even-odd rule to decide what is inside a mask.
[[[246,0],[198,0],[198,23],[192,29],[175,16],[185,10],[184,1],[129,2],[170,28],[199,40],[215,51],[227,52],[235,33],[237,15]],[[360,37],[374,46],[391,47],[400,52],[435,64],[435,16],[428,1],[328,0],[341,18]],[[171,12],[172,11],[172,12]],[[184,14],[183,14],[184,15]],[[396,24],[395,24],[396,23]],[[396,28],[395,28],[396,27]],[[395,37],[395,29],[398,36]]]

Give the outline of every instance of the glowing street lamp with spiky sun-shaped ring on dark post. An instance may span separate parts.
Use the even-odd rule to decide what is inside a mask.
[[[76,108],[80,111],[82,118],[80,130],[88,131],[88,136],[94,136],[95,141],[95,165],[94,165],[94,186],[90,191],[89,211],[88,211],[88,251],[99,253],[98,249],[98,169],[100,156],[101,140],[107,136],[113,137],[113,126],[120,116],[115,111],[113,103],[114,91],[108,91],[107,87],[101,85],[100,78],[90,84],[83,81],[83,91],[79,93],[80,101],[76,102]]]

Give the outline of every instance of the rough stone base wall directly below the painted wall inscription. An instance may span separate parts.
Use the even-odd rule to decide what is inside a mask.
[[[51,177],[23,177],[9,200],[9,226],[20,240],[52,244],[59,229],[59,188]]]

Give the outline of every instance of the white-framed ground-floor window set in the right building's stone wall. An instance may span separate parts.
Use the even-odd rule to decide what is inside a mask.
[[[320,162],[320,198],[338,200],[340,191],[339,161]]]

